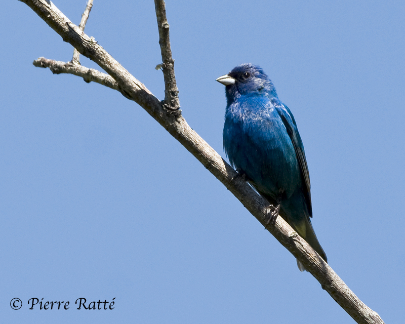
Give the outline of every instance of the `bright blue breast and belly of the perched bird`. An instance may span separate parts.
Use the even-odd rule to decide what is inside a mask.
[[[227,113],[223,145],[230,163],[246,173],[255,187],[276,198],[291,196],[300,185],[293,143],[275,110]]]

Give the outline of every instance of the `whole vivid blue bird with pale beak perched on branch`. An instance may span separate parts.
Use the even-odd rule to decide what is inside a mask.
[[[223,145],[231,165],[327,261],[310,221],[308,166],[290,109],[257,65],[236,66],[217,81],[225,86]]]

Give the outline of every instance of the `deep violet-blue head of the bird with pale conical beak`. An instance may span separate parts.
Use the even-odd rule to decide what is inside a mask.
[[[228,74],[217,78],[217,81],[225,86],[228,101],[234,101],[239,96],[277,98],[273,83],[257,65],[238,65]]]

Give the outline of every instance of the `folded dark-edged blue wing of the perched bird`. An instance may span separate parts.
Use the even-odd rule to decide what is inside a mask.
[[[302,144],[300,133],[298,133],[297,124],[295,123],[293,114],[286,105],[279,103],[275,105],[275,108],[281,117],[282,123],[287,129],[287,133],[290,136],[291,141],[293,142],[298,162],[300,164],[302,179],[304,181],[302,190],[307,203],[309,216],[312,217],[311,183],[309,181],[309,171],[307,160],[305,158],[304,145]]]

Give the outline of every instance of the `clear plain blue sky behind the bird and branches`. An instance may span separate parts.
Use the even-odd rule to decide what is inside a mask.
[[[78,24],[86,0],[55,5]],[[215,79],[262,66],[297,121],[330,265],[402,322],[405,2],[182,0],[167,14],[189,125],[225,156]],[[0,17],[2,322],[354,322],[142,108],[34,67],[72,48],[31,9],[8,0]],[[85,31],[163,99],[152,0],[95,0]],[[80,297],[115,308],[76,310]],[[70,308],[29,310],[30,298]]]

